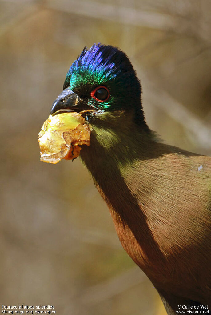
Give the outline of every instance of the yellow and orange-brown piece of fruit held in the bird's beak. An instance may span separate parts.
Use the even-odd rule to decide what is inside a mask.
[[[91,126],[76,112],[49,116],[38,134],[40,160],[58,163],[61,159],[78,157],[81,145],[90,144]]]

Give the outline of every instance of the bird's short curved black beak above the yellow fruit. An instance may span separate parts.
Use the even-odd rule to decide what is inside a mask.
[[[57,97],[51,107],[51,115],[55,112],[81,112],[85,110],[93,110],[88,106],[76,93],[70,88],[64,89]]]

